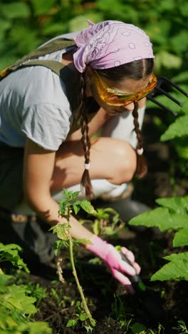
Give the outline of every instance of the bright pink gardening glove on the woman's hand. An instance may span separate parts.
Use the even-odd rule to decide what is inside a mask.
[[[104,263],[110,268],[113,276],[120,281],[125,288],[130,292],[134,293],[131,282],[128,275],[136,275],[140,273],[140,265],[135,262],[135,256],[127,248],[122,247],[121,252],[127,257],[131,265],[122,260],[120,253],[114,248],[113,245],[103,241],[98,236],[94,236],[91,240],[92,244],[87,244],[86,248],[88,251],[93,252],[97,255]]]

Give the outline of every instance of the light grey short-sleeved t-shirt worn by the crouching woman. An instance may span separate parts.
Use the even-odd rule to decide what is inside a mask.
[[[65,51],[39,59],[61,61]],[[42,148],[56,151],[68,135],[72,121],[66,86],[50,69],[31,66],[0,81],[1,142],[23,147],[27,136]]]

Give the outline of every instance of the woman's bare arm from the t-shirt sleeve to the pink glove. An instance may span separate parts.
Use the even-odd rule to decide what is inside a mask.
[[[66,223],[58,216],[58,203],[51,197],[51,183],[56,152],[46,151],[26,139],[23,163],[23,192],[29,206],[50,226]],[[71,217],[71,236],[90,240],[93,233]]]

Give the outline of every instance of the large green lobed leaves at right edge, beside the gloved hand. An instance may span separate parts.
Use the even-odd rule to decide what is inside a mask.
[[[188,196],[158,198],[160,208],[155,208],[132,218],[130,225],[158,227],[160,231],[174,231],[173,246],[188,245]],[[151,280],[188,280],[188,252],[164,257],[169,263],[152,275]]]

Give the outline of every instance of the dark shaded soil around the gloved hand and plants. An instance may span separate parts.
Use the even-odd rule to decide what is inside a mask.
[[[164,111],[155,111],[155,116],[163,117],[165,123],[167,118],[162,113]],[[172,186],[169,168],[172,159],[175,161],[173,147],[171,143],[160,143],[160,129],[153,125],[152,117],[152,111],[147,111],[143,128],[149,171],[142,181],[135,180],[133,198],[154,208],[156,198],[186,195],[188,182],[177,168]],[[187,321],[187,282],[184,280],[150,282],[151,275],[164,265],[165,261],[162,258],[165,255],[184,251],[172,248],[172,233],[160,233],[158,229],[150,228],[145,228],[145,231],[133,231],[125,224],[125,228],[117,233],[117,238],[108,241],[114,245],[127,246],[135,253],[137,262],[142,267],[140,275],[143,282],[160,295],[164,318],[160,320],[152,318],[143,307],[142,300],[127,294],[125,288],[112,278],[103,265],[89,263],[92,254],[80,246],[76,268],[90,312],[96,320],[92,333],[141,333],[141,329],[137,331],[131,329],[135,323],[145,326],[145,332],[142,333],[188,333],[173,329],[177,327],[178,320],[184,320],[185,323]],[[87,320],[83,323],[78,322],[75,328],[66,328],[68,320],[74,319],[75,313],[78,313],[75,303],[80,300],[68,264],[67,251],[63,260],[63,277],[66,283],[58,281],[55,265],[54,268],[53,265],[41,265],[30,270],[31,274],[26,275],[26,280],[39,283],[46,289],[46,298],[43,298],[38,305],[39,310],[35,320],[47,321],[55,334],[87,333],[83,327],[88,325]]]

